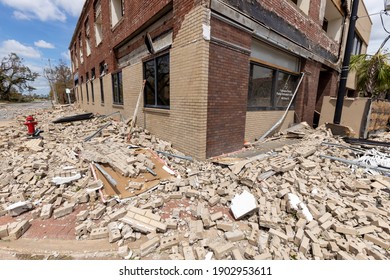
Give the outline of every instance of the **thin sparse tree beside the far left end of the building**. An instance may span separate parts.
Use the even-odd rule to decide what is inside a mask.
[[[55,65],[53,68],[51,66],[45,68],[44,75],[51,86],[50,97],[58,103],[68,103],[65,89],[73,87],[72,71],[69,66],[60,60],[58,65]],[[71,93],[71,100],[74,101],[73,92]]]

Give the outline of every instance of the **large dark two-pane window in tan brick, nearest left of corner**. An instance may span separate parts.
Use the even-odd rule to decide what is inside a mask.
[[[169,54],[144,62],[145,107],[169,109]]]

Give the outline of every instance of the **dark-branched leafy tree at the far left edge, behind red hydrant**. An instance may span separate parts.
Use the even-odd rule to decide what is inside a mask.
[[[35,88],[29,82],[35,81],[38,76],[38,73],[23,64],[23,59],[17,54],[10,53],[1,60],[0,99],[9,101],[16,90],[32,92]]]

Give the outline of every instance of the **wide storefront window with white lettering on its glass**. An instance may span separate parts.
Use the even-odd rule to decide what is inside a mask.
[[[252,62],[248,92],[249,110],[284,110],[290,104],[299,76]]]

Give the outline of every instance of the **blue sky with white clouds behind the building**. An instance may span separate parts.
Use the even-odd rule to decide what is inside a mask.
[[[0,58],[17,53],[31,70],[43,73],[62,59],[70,65],[68,46],[85,0],[0,0]],[[369,14],[384,8],[384,0],[364,0]],[[390,12],[383,16],[390,31]],[[375,53],[386,38],[379,15],[373,21],[368,53]],[[390,48],[390,41],[386,45]],[[41,76],[32,84],[38,94],[48,94]]]

